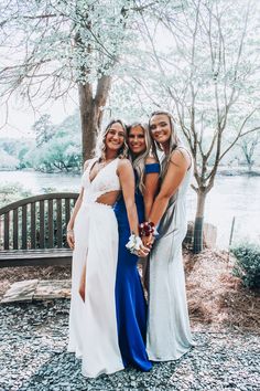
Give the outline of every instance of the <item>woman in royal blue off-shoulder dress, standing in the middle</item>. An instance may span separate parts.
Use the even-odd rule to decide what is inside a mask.
[[[128,128],[128,146],[136,175],[136,204],[141,223],[148,220],[158,192],[160,165],[151,156],[151,139],[144,125],[133,124]],[[116,278],[119,348],[124,367],[149,371],[152,364],[145,351],[147,303],[137,267],[138,255],[126,247],[131,232],[123,197],[117,201],[115,213],[119,230]]]

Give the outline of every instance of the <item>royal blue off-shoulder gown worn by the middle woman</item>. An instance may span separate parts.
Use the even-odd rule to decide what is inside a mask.
[[[159,172],[159,163],[145,166],[145,173]],[[137,177],[136,177],[137,179]],[[139,222],[144,221],[144,203],[140,190],[136,190],[136,204]],[[116,279],[116,307],[119,347],[124,367],[133,366],[142,371],[152,368],[145,351],[147,303],[137,263],[138,256],[131,254],[126,244],[130,236],[127,210],[123,198],[113,207],[119,232],[118,266]]]

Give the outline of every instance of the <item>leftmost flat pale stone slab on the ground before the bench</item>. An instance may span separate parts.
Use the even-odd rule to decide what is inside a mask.
[[[3,296],[1,303],[32,302],[37,282],[37,279],[28,279],[12,284],[10,289],[8,289]]]

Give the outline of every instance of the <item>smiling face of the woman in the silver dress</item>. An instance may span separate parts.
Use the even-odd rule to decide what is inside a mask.
[[[155,114],[150,119],[151,136],[154,141],[166,146],[172,134],[171,121],[166,114]]]

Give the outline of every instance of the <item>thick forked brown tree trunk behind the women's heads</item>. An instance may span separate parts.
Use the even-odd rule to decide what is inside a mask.
[[[93,157],[97,135],[102,120],[102,107],[106,105],[111,87],[111,77],[102,76],[97,82],[96,96],[93,85],[78,85],[79,110],[82,121],[83,162]]]

